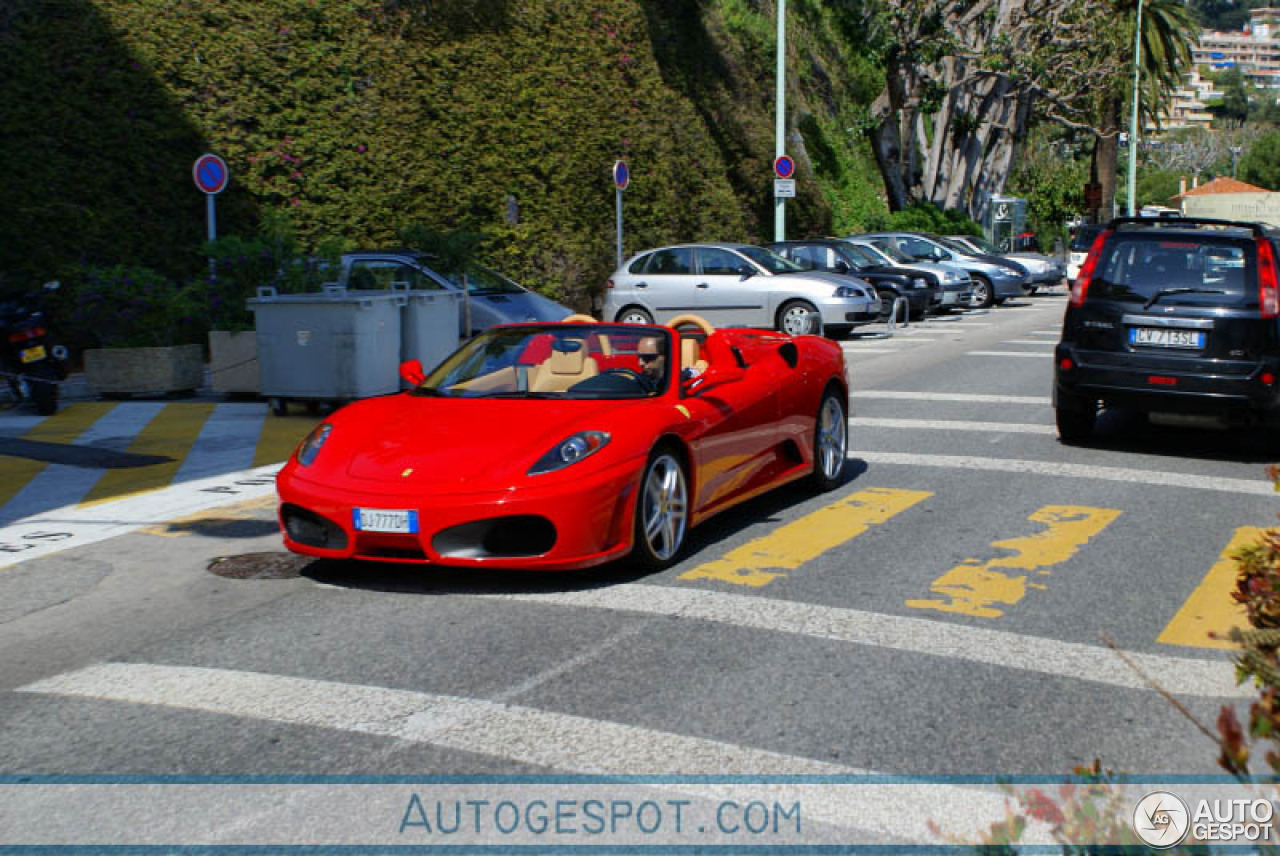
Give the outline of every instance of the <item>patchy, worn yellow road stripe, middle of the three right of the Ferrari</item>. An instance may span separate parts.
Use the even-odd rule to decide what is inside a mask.
[[[913,609],[937,609],[964,613],[979,618],[1004,614],[998,606],[1016,604],[1027,595],[1027,589],[1044,589],[1044,583],[1029,582],[1030,572],[1048,576],[1048,568],[1066,562],[1084,544],[1105,530],[1120,516],[1111,508],[1085,508],[1083,505],[1046,505],[1027,519],[1044,523],[1048,528],[1036,535],[992,541],[1012,555],[996,559],[965,559],[929,586],[937,598],[908,600]],[[1024,571],[1021,575],[1001,573],[997,568]]]

